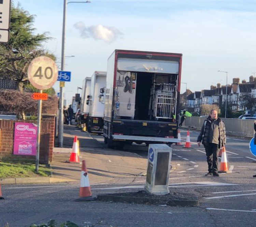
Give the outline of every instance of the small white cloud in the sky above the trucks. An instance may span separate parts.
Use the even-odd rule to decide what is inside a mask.
[[[74,27],[80,31],[82,38],[94,38],[95,40],[104,40],[107,43],[112,43],[118,37],[122,38],[123,33],[115,27],[103,25],[93,25],[86,27],[83,22],[77,22]]]

